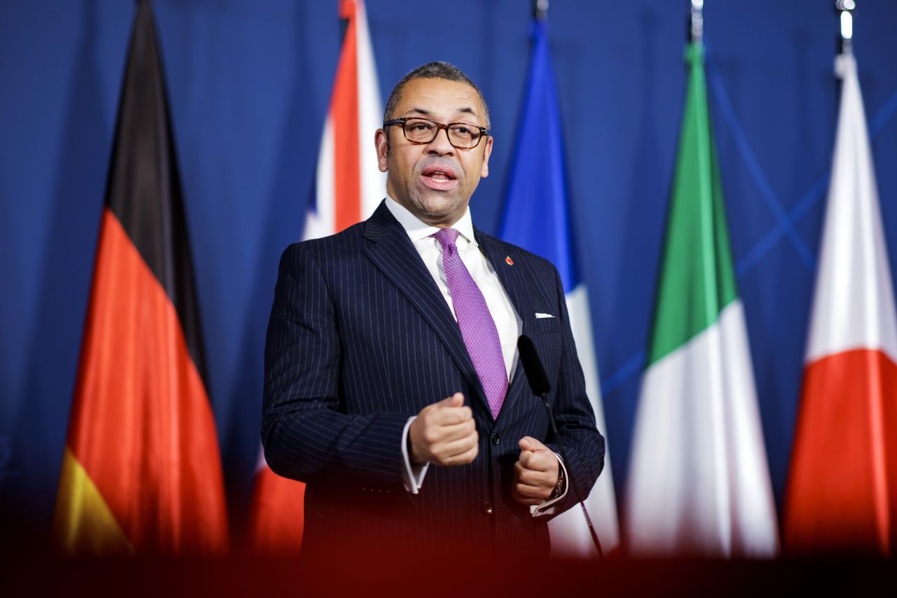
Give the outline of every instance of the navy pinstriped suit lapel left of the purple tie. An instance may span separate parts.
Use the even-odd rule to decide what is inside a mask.
[[[448,354],[467,381],[476,389],[479,400],[486,405],[485,393],[474,363],[470,360],[461,329],[452,316],[448,303],[423,264],[405,229],[396,221],[387,206],[380,204],[365,222],[364,238],[370,243],[364,253],[390,282],[405,295],[414,308],[445,344]]]

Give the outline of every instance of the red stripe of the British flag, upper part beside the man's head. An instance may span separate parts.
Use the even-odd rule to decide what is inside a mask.
[[[361,220],[355,3],[344,1],[340,8],[343,18],[349,22],[345,30],[339,65],[336,68],[336,80],[330,104],[330,121],[334,127],[334,232],[344,230]]]

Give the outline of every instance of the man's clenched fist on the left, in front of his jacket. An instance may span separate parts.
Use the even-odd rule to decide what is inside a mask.
[[[468,464],[479,452],[479,438],[474,413],[461,393],[424,407],[408,430],[411,459],[417,464]]]

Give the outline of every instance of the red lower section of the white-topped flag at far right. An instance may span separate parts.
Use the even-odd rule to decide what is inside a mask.
[[[793,552],[888,554],[897,530],[897,365],[845,351],[806,367],[785,502]]]

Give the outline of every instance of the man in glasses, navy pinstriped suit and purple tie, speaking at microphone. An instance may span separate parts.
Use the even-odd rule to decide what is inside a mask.
[[[471,223],[492,136],[456,67],[398,82],[375,143],[388,197],[287,248],[268,326],[262,440],[274,472],[307,483],[303,551],[547,552],[570,476],[585,496],[604,465],[560,278]],[[543,360],[567,463],[519,334]]]

